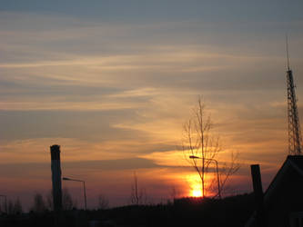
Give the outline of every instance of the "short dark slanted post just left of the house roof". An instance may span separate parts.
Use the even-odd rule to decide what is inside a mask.
[[[257,225],[265,226],[264,219],[264,195],[262,189],[260,166],[258,164],[250,165],[251,178],[254,187],[256,210],[257,210]]]

